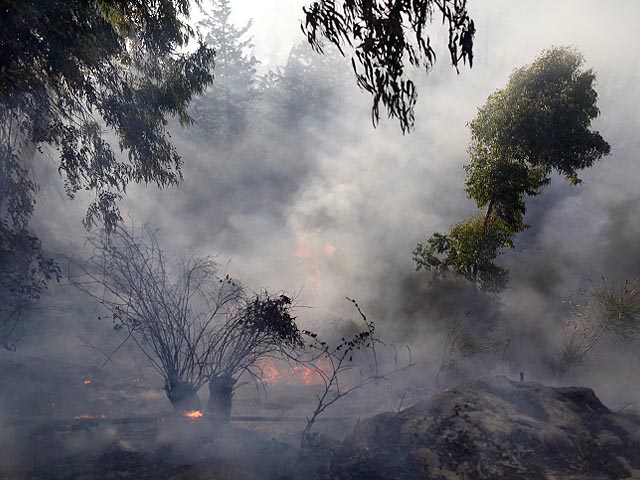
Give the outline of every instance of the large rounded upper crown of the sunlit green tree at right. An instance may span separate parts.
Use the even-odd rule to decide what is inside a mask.
[[[523,197],[540,193],[556,171],[572,185],[609,144],[590,129],[600,111],[595,73],[572,48],[552,48],[531,65],[517,69],[507,86],[489,96],[469,124],[470,163],[466,190],[513,231],[525,225]]]

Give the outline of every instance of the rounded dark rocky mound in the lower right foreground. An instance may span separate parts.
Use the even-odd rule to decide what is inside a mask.
[[[588,388],[491,377],[361,423],[334,478],[640,478],[640,418]]]

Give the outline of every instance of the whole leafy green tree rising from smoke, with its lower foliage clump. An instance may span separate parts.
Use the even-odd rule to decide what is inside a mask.
[[[583,63],[574,49],[547,50],[478,109],[469,124],[465,185],[484,214],[418,244],[417,269],[451,270],[490,291],[506,286],[508,272],[494,260],[529,228],[525,196],[538,195],[554,171],[576,185],[580,170],[609,154],[609,144],[590,129],[600,112],[595,74]]]

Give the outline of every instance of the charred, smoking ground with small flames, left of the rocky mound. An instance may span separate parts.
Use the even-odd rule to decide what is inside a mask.
[[[203,411],[174,412],[154,376],[120,378],[35,357],[9,362],[0,385],[0,477],[297,478],[320,468],[325,453],[315,459],[299,449],[305,416],[322,392],[318,378],[282,362],[263,368],[260,390],[241,387],[231,424],[221,425]],[[376,390],[397,398],[388,386]],[[329,412],[315,431],[339,441],[353,432],[360,408],[389,407],[366,393]]]

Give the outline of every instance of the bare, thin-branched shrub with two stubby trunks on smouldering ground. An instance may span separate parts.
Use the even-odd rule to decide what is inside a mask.
[[[228,419],[240,375],[259,375],[259,359],[300,344],[288,297],[247,295],[211,258],[169,259],[148,228],[119,225],[90,243],[74,283],[128,333],[178,411],[200,410],[197,394],[209,382],[212,413]]]

